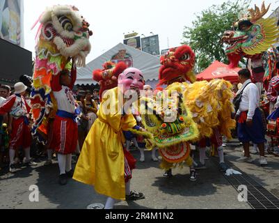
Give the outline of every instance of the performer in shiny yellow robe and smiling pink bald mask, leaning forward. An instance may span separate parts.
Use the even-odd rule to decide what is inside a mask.
[[[120,88],[120,84],[123,87]],[[141,71],[128,68],[119,76],[118,87],[106,91],[74,171],[74,180],[93,185],[96,192],[109,197],[105,206],[108,209],[113,208],[115,199],[144,198],[142,193],[129,190],[134,158],[123,149],[125,138],[122,133],[122,130],[142,129],[136,126],[132,114],[123,114],[123,105],[120,105],[123,91],[142,90],[143,84]]]

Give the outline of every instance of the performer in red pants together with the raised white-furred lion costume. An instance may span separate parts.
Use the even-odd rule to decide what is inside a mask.
[[[34,121],[32,134],[47,144],[47,148],[58,152],[61,174],[65,174],[63,169],[70,171],[70,156],[77,145],[77,136],[74,134],[77,110],[72,94],[77,78],[76,65],[86,65],[86,56],[91,48],[89,36],[92,31],[77,11],[74,6],[53,6],[47,8],[35,23],[40,22],[40,27],[36,36],[31,93]],[[61,159],[59,155],[63,155]]]

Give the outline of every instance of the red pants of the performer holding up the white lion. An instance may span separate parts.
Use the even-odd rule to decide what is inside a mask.
[[[53,135],[50,148],[54,148],[57,153],[63,155],[71,154],[76,151],[78,130],[77,123],[72,118],[61,118],[56,116],[54,119]]]

